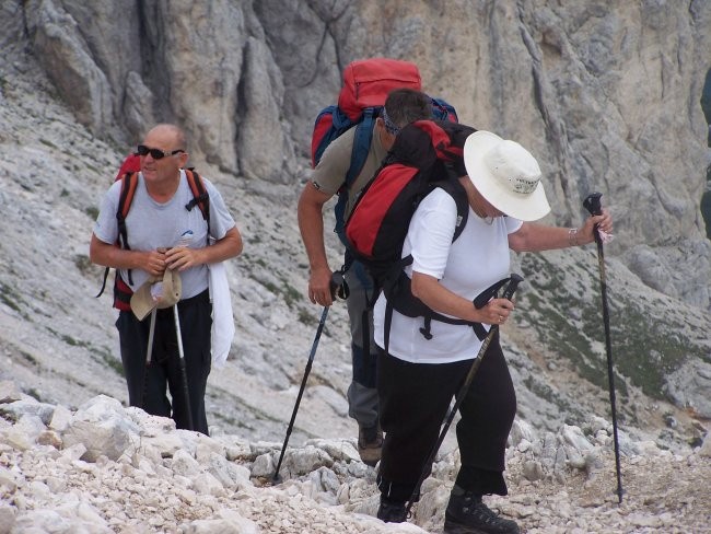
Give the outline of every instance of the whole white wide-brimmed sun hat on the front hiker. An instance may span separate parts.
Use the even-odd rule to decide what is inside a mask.
[[[502,213],[535,221],[550,211],[536,159],[515,141],[475,131],[464,143],[469,179]]]

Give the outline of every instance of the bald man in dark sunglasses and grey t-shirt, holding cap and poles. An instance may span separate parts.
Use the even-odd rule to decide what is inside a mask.
[[[177,126],[148,132],[137,150],[140,173],[115,182],[102,200],[90,258],[117,269],[114,306],[130,405],[207,434],[208,265],[237,256],[242,236],[215,187],[185,169],[186,150]]]

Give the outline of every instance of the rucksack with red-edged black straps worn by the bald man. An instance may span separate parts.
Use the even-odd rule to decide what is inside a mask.
[[[118,221],[118,240],[117,245],[121,248],[130,249],[128,243],[128,232],[126,231],[126,217],[131,209],[131,202],[136,195],[136,187],[138,186],[138,173],[141,170],[140,159],[138,154],[129,154],[126,156],[121,166],[116,175],[116,182],[121,181],[121,193],[118,198],[118,208],[116,209],[116,220]],[[202,182],[202,177],[195,171],[195,169],[185,169],[185,176],[187,177],[188,185],[193,191],[193,199],[185,205],[185,209],[190,211],[198,206],[202,212],[208,225],[208,240],[210,239],[210,197]],[[96,298],[104,293],[106,288],[106,279],[108,278],[109,268],[104,269],[104,280],[102,287],[96,294]],[[133,283],[131,271],[128,271],[128,282]],[[131,310],[131,288],[126,283],[120,276],[116,275],[114,278],[114,307],[130,312]]]

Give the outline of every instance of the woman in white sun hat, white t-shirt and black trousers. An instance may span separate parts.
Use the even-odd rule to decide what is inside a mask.
[[[546,251],[594,242],[594,228],[609,234],[610,214],[590,217],[580,229],[537,224],[550,207],[540,183],[540,167],[521,144],[489,131],[471,134],[464,147],[464,186],[469,217],[452,242],[457,209],[454,199],[434,189],[419,205],[403,247],[411,254],[406,272],[412,293],[431,309],[486,325],[501,325],[514,310],[506,299],[475,309],[473,300],[506,278],[510,249]],[[374,311],[375,341],[384,347],[386,300]],[[386,430],[378,469],[378,518],[406,519],[409,500],[454,394],[478,355],[482,341],[473,328],[433,321],[424,340],[420,317],[393,312],[388,353],[381,351],[377,388]],[[486,495],[506,495],[503,478],[509,431],[516,396],[498,333],[489,345],[464,398],[456,426],[462,467],[445,514],[446,533],[517,533],[514,521],[492,512]]]

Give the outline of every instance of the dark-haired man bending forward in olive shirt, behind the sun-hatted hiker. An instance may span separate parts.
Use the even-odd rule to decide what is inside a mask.
[[[341,197],[339,200],[347,198],[342,214],[346,219],[358,193],[380,169],[397,131],[413,120],[431,117],[432,100],[424,93],[411,89],[389,92],[383,112],[375,120],[365,163],[349,186],[345,184],[351,164],[357,127],[350,128],[334,140],[324,152],[299,200],[299,228],[308,255],[308,299],[313,303],[323,306],[331,304],[329,283],[333,271],[324,246],[324,205],[337,193]],[[337,213],[337,218],[339,217]],[[337,228],[342,229],[342,222],[337,220]],[[345,237],[340,237],[345,242]],[[348,252],[346,254],[348,266],[351,258],[348,257]],[[361,460],[369,465],[375,465],[381,457],[383,443],[375,390],[376,347],[372,338],[372,305],[376,295],[370,275],[359,262],[350,265],[346,271],[346,281],[350,290],[347,304],[353,363],[353,378],[348,388],[349,415],[358,421],[358,452]]]

